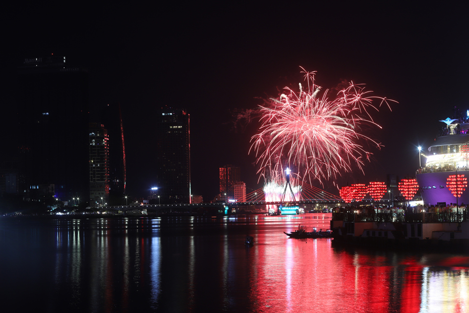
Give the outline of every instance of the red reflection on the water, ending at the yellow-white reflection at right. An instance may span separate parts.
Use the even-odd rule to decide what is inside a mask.
[[[264,236],[257,240],[272,241]],[[419,312],[422,266],[402,272],[386,256],[336,250],[331,239],[283,240],[255,246],[256,312]]]

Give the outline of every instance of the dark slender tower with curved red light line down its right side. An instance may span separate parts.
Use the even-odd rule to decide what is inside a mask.
[[[109,166],[109,202],[120,205],[126,195],[127,166],[126,146],[124,142],[124,126],[119,104],[107,104],[101,112],[101,124],[107,129],[108,166]]]

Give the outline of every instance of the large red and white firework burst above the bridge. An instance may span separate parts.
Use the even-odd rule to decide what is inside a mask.
[[[296,178],[310,183],[336,178],[351,171],[352,165],[363,172],[364,159],[371,155],[363,144],[381,146],[362,133],[369,126],[381,129],[370,112],[396,101],[371,96],[363,85],[353,83],[330,100],[331,92],[314,83],[315,72],[301,69],[306,90],[301,84],[298,93],[285,88],[279,99],[268,99],[260,106],[262,126],[250,149],[256,152],[259,179],[283,185],[286,167],[297,169]],[[379,106],[374,100],[379,100]]]

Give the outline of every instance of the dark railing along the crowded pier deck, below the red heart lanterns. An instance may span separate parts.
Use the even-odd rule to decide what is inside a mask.
[[[344,222],[405,222],[405,223],[459,223],[469,221],[464,212],[445,213],[332,213],[333,221]]]

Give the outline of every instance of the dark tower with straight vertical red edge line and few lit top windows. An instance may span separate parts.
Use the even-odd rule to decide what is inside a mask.
[[[156,115],[156,173],[161,203],[190,203],[189,114],[162,109]]]

